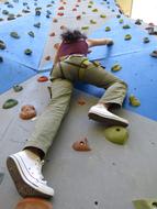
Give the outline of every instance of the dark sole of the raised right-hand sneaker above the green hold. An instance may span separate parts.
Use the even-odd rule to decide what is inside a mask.
[[[99,114],[93,113],[93,112],[89,112],[88,117],[89,117],[89,119],[92,119],[94,121],[105,123],[109,127],[112,127],[112,125],[128,127],[128,124],[125,122],[117,121],[117,120],[112,119],[112,118],[102,117],[102,116],[99,116]]]

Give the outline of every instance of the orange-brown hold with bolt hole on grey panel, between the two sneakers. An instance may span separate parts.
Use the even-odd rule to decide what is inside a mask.
[[[72,144],[75,151],[91,151],[87,138]]]

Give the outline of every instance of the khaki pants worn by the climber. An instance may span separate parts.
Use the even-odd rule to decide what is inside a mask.
[[[99,102],[122,106],[127,85],[108,73],[98,63],[89,62],[81,55],[70,55],[57,63],[52,73],[52,99],[38,118],[35,130],[25,145],[42,150],[51,147],[60,123],[68,112],[75,80],[81,80],[106,89]]]

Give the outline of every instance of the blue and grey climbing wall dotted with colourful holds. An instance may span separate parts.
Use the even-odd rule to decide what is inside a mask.
[[[79,29],[89,37],[111,37],[114,45],[92,48],[90,61],[124,79],[128,91],[124,109],[115,113],[130,121],[125,145],[106,141],[104,127],[87,113],[103,89],[77,82],[69,114],[46,157],[44,175],[54,187],[54,208],[133,209],[135,199],[155,198],[157,169],[156,28],[131,20],[114,0],[9,0],[0,1],[0,207],[12,209],[20,200],[5,167],[9,154],[21,150],[49,101],[47,86],[40,82],[53,67],[55,46],[66,29]],[[14,32],[14,33],[12,33]],[[27,54],[26,54],[26,52]],[[13,86],[23,87],[14,91]],[[138,106],[131,103],[134,96]],[[3,109],[8,99],[18,105]],[[23,105],[37,116],[24,121]],[[87,138],[90,152],[71,145]],[[7,201],[9,199],[10,201]]]

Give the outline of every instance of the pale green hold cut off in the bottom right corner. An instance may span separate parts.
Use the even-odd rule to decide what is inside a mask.
[[[139,199],[133,201],[135,209],[157,209],[157,199]]]

